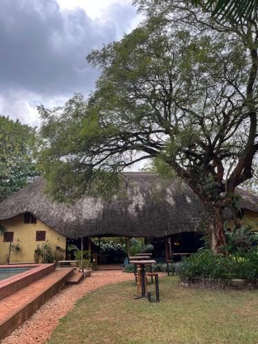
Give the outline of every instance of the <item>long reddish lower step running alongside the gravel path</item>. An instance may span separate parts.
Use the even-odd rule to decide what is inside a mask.
[[[0,341],[61,290],[73,268],[56,269],[49,275],[0,300]]]

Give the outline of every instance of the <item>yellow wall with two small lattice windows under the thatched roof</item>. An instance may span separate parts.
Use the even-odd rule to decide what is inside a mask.
[[[42,246],[45,241],[36,241],[36,230],[45,230],[45,240],[50,243],[54,252],[55,246],[60,246],[65,250],[66,237],[57,233],[55,230],[47,227],[39,219],[36,224],[25,224],[23,221],[23,214],[1,221],[1,225],[6,232],[14,232],[14,241],[12,245],[17,244],[19,239],[19,246],[21,250],[17,253],[11,250],[10,263],[23,263],[34,261],[34,250],[36,246]],[[3,242],[3,235],[0,235],[0,264],[6,264],[8,257],[10,242]]]

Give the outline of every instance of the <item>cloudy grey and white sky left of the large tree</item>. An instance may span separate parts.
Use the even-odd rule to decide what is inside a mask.
[[[0,114],[39,126],[53,107],[94,89],[92,50],[140,21],[131,0],[0,0]]]

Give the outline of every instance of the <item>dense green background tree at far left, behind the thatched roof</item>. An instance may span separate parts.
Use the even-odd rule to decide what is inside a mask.
[[[35,149],[35,129],[0,116],[0,201],[36,178]]]

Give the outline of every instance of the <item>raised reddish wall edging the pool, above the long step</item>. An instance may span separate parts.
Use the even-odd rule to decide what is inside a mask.
[[[9,295],[17,292],[21,288],[28,286],[37,279],[48,275],[50,272],[55,270],[55,264],[19,264],[15,265],[0,265],[0,268],[32,268],[31,270],[21,272],[18,275],[3,279],[0,281],[0,300],[8,297]]]

